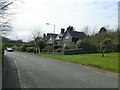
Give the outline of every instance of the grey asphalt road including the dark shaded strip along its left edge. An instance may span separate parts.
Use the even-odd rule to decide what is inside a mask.
[[[4,62],[3,88],[118,88],[117,74],[69,62],[20,52]]]

